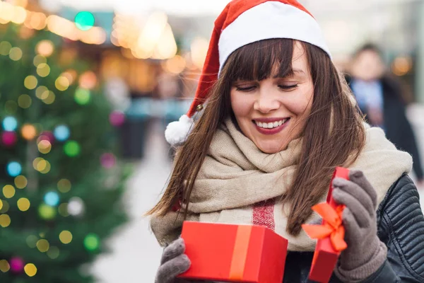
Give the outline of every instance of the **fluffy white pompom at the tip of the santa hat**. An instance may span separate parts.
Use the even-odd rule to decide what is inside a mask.
[[[178,121],[170,122],[165,129],[166,141],[172,146],[182,145],[192,131],[193,125],[193,118],[187,115],[182,115]]]

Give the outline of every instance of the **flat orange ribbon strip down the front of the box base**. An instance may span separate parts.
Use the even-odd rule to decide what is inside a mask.
[[[251,233],[252,226],[240,225],[237,227],[237,234],[235,236],[234,250],[232,252],[230,265],[230,280],[240,282],[243,279]]]

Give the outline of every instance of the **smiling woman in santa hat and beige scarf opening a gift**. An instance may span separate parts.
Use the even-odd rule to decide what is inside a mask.
[[[165,133],[180,147],[148,212],[166,246],[156,282],[187,282],[176,279],[190,265],[178,238],[184,219],[273,229],[288,239],[284,282],[307,282],[315,242],[301,225],[319,221],[311,207],[325,201],[336,166],[351,168],[351,180],[334,181],[348,248],[331,282],[424,282],[411,156],[353,103],[297,1],[231,1],[215,22],[192,107]]]

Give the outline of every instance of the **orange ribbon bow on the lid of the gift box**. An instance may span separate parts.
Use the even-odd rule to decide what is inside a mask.
[[[314,205],[312,210],[322,216],[324,224],[303,224],[302,229],[310,238],[322,239],[330,237],[331,246],[334,250],[345,250],[348,245],[344,241],[345,229],[342,223],[344,205],[338,205],[335,209],[327,202]]]

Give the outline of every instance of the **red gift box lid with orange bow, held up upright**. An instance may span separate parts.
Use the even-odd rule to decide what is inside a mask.
[[[333,178],[331,178],[326,203],[317,204],[313,207],[316,212],[323,216],[322,225],[306,224],[302,226],[312,238],[319,238],[312,259],[309,278],[320,283],[329,282],[341,250],[347,248],[346,242],[343,240],[344,227],[341,223],[344,206],[338,205],[332,197],[334,178],[349,180],[349,170],[341,167],[336,168]]]

